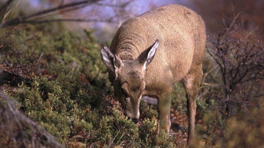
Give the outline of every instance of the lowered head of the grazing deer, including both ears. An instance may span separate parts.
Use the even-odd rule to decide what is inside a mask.
[[[114,94],[119,97],[124,114],[138,122],[139,102],[145,89],[144,72],[146,66],[153,60],[158,48],[158,40],[143,51],[135,60],[122,61],[105,45],[101,48],[101,58],[109,68],[109,79],[112,77]]]

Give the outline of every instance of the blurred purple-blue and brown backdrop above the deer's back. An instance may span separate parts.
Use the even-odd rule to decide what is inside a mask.
[[[1,1],[0,4],[5,1]],[[78,1],[20,0],[11,3],[10,8],[17,7],[14,15],[23,16],[72,2]],[[240,14],[237,20],[243,21],[246,30],[258,29],[260,35],[264,33],[263,0],[101,0],[73,6],[74,8],[69,10],[62,9],[44,14],[41,17],[46,19],[80,19],[77,22],[64,22],[64,25],[68,29],[75,31],[94,28],[96,30],[94,35],[102,42],[105,42],[106,40],[111,40],[119,25],[125,20],[165,4],[180,4],[197,12],[202,16],[206,24],[207,33],[216,32],[223,27],[224,20],[226,25],[228,25],[234,15],[238,13]],[[87,19],[94,19],[94,21],[90,20],[88,21],[89,23],[85,23]]]

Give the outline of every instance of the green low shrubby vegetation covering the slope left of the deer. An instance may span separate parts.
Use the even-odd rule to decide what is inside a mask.
[[[6,85],[4,92],[63,145],[153,147],[156,139],[168,141],[164,147],[173,145],[172,136],[156,134],[155,119],[138,128],[104,99],[112,89],[100,45],[88,30],[53,36],[26,25],[1,31],[1,68],[32,78],[30,86]]]

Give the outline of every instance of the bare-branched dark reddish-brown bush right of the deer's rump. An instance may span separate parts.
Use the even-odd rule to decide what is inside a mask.
[[[229,27],[208,37],[207,52],[219,68],[216,97],[225,106],[225,116],[234,116],[242,109],[257,106],[263,95],[264,46],[257,32],[246,32],[235,19]],[[211,83],[212,83],[211,82]]]

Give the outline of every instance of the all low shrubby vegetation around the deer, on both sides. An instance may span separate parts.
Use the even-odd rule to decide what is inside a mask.
[[[61,30],[55,30],[56,25]],[[197,141],[194,147],[261,147],[264,144],[263,61],[259,60],[263,59],[264,48],[261,42],[242,38],[236,34],[238,29],[230,28],[227,34],[209,38],[208,56],[204,62],[206,65],[209,61],[209,65],[205,68],[197,96]],[[101,45],[91,30],[74,33],[63,29],[60,23],[27,24],[1,29],[0,38],[0,68],[32,79],[30,85],[23,82],[18,87],[4,85],[4,93],[12,98],[21,113],[56,137],[60,144],[66,147],[185,146],[188,120],[181,84],[174,86],[171,104],[171,120],[179,123],[181,130],[169,134],[158,132],[156,106],[144,101],[140,105],[140,122],[134,124],[123,116],[121,107],[117,107],[118,98],[112,97],[107,69],[101,62]],[[246,45],[254,46],[254,52],[245,49]],[[218,60],[233,61],[236,55],[232,50],[237,51],[240,59],[244,59],[245,54],[254,54],[254,58],[250,58],[251,61],[244,59],[241,65],[218,63]],[[258,66],[258,73],[245,69],[253,64]],[[225,66],[222,67],[226,69],[225,73],[221,66]],[[247,79],[242,78],[228,92],[226,87],[231,87],[231,80],[226,83],[224,79],[235,73],[241,78],[240,72],[248,72],[243,77]],[[0,113],[6,104],[3,100],[1,102]],[[0,118],[1,121],[6,119],[5,116]],[[0,124],[0,131],[3,131],[6,122]],[[36,131],[36,128],[29,128],[28,138],[35,135],[45,141]],[[1,147],[15,143],[10,133],[0,133],[1,139],[5,139],[0,142]],[[32,146],[16,142],[17,147]],[[156,142],[162,145],[157,146]],[[53,147],[49,143],[42,144]]]

